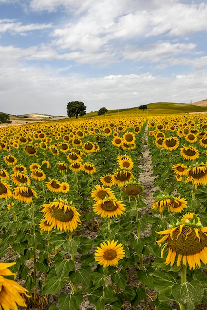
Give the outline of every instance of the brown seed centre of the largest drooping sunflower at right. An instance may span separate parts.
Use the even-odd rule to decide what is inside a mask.
[[[183,255],[191,255],[202,251],[207,243],[207,236],[201,230],[198,230],[199,238],[196,236],[195,228],[184,226],[181,234],[180,228],[177,227],[173,231],[173,240],[169,236],[167,238],[168,246],[176,253]]]

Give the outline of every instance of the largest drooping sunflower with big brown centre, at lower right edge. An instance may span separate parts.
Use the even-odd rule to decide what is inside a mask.
[[[171,225],[172,226],[172,225]],[[178,222],[175,227],[157,232],[165,235],[157,243],[167,241],[161,251],[163,257],[164,249],[168,246],[168,255],[165,263],[172,266],[177,257],[177,266],[180,267],[182,261],[183,265],[189,265],[190,269],[201,267],[201,261],[207,264],[207,227],[203,227],[201,222],[193,217],[187,219],[185,222]]]

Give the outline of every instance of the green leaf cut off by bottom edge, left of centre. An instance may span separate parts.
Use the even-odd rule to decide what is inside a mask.
[[[61,310],[77,310],[83,301],[83,295],[80,293],[74,294],[60,294],[58,302],[61,306]]]

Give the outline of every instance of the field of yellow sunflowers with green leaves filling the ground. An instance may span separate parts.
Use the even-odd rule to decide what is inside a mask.
[[[207,309],[207,116],[1,127],[0,154],[0,309]]]

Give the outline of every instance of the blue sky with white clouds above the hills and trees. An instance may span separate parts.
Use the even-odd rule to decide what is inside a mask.
[[[0,0],[0,111],[207,99],[206,0]]]

